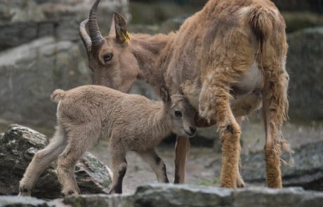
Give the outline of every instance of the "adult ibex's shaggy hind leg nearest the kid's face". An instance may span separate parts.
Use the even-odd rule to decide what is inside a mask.
[[[240,127],[230,109],[228,83],[218,73],[206,74],[199,96],[199,113],[205,119],[216,120],[222,141],[221,186],[236,188],[240,156]]]

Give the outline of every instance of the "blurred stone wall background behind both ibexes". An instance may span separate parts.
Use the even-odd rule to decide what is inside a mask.
[[[113,11],[128,19],[130,32],[155,34],[176,31],[185,18],[202,6],[195,1],[156,2],[103,0],[98,10],[102,33],[110,29]],[[55,88],[91,84],[78,27],[92,4],[92,0],[0,1],[1,130],[10,123],[20,123],[50,135],[55,125],[51,92]],[[320,122],[323,119],[322,15],[282,13],[287,31],[292,32],[288,34],[287,58],[291,122]],[[157,99],[151,87],[140,81],[131,93]],[[199,131],[196,145],[218,145],[214,131],[215,128]]]

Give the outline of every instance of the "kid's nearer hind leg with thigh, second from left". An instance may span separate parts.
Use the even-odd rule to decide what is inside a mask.
[[[67,133],[68,144],[58,157],[58,178],[62,184],[62,194],[80,194],[74,175],[74,166],[79,158],[91,146],[92,141],[98,139],[98,134],[86,131],[86,127],[75,128]]]

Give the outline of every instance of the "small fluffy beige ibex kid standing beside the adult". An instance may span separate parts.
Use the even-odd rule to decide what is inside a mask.
[[[164,87],[161,94],[164,102],[103,86],[55,90],[51,99],[58,102],[58,127],[50,144],[37,152],[29,164],[20,181],[20,195],[32,193],[41,172],[57,157],[62,193],[79,194],[74,166],[100,136],[110,141],[113,171],[110,193],[122,192],[129,150],[138,152],[150,164],[159,182],[169,182],[164,161],[155,147],[171,131],[188,137],[195,135],[195,113],[183,95],[169,97]]]

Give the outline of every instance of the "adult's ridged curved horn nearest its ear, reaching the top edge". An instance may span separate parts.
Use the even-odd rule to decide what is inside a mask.
[[[100,0],[96,0],[93,4],[90,16],[88,17],[88,32],[90,33],[91,41],[93,46],[99,46],[103,42],[103,36],[100,33],[98,26],[98,19],[96,18],[96,10]]]

